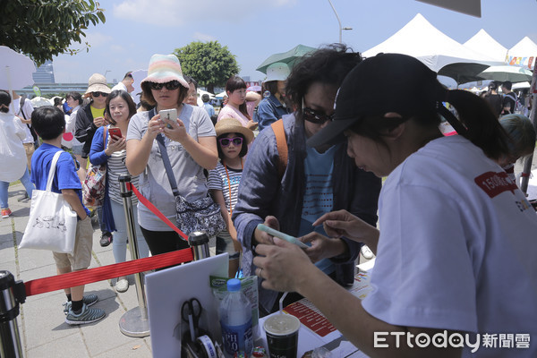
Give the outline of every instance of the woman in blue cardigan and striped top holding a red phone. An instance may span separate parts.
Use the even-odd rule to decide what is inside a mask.
[[[90,149],[90,162],[93,165],[107,165],[107,186],[103,203],[103,219],[107,230],[113,233],[112,251],[115,263],[124,262],[127,255],[127,224],[124,203],[119,186],[119,175],[129,174],[125,166],[126,141],[125,133],[132,115],[136,114],[136,105],[131,95],[124,90],[113,90],[107,97],[107,120],[110,124],[99,127]],[[105,129],[106,134],[105,134]],[[106,143],[105,146],[105,135]],[[132,176],[132,185],[138,187],[138,176]],[[140,258],[149,256],[149,247],[141,234],[138,225],[136,196],[132,196],[132,210],[136,221],[136,239]],[[127,277],[119,277],[115,282],[115,291],[125,292],[129,289]]]

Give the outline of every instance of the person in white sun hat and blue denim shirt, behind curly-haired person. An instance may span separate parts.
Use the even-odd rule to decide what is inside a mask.
[[[286,107],[284,98],[286,97],[286,80],[289,76],[289,66],[277,62],[267,67],[267,79],[263,82],[263,87],[270,95],[263,98],[258,106],[258,118],[260,131],[276,122],[283,115],[291,113],[291,109]]]

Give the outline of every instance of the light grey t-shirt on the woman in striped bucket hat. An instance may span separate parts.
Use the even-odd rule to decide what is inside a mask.
[[[141,138],[148,130],[149,119],[149,112],[141,112],[133,115],[129,123],[127,141],[141,141]],[[198,141],[200,137],[216,137],[217,135],[207,111],[202,107],[183,105],[179,119],[183,121],[186,131],[192,136],[194,141]],[[179,193],[191,202],[204,198],[207,195],[208,189],[207,178],[203,174],[203,167],[192,159],[181,143],[171,141],[166,137],[165,143]],[[140,187],[138,190],[166,215],[171,222],[175,223],[175,198],[166,175],[166,169],[162,162],[157,141],[153,141],[148,165],[140,175]],[[162,220],[151,213],[141,202],[138,203],[138,222],[147,230],[171,231],[169,226],[166,226]]]

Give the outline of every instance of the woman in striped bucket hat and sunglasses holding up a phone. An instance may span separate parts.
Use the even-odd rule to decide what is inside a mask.
[[[166,146],[179,193],[186,200],[200,200],[208,194],[203,170],[217,166],[215,127],[203,107],[183,103],[189,84],[184,81],[175,55],[151,56],[148,77],[141,81],[141,90],[142,98],[156,107],[132,117],[125,163],[132,175],[140,175],[141,194],[175,222],[175,197],[158,141]],[[153,255],[189,247],[141,202],[138,203],[138,219]]]

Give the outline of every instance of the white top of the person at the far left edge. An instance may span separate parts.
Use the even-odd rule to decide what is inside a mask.
[[[12,183],[19,180],[27,169],[26,151],[22,145],[26,128],[19,117],[0,112],[0,181]]]

